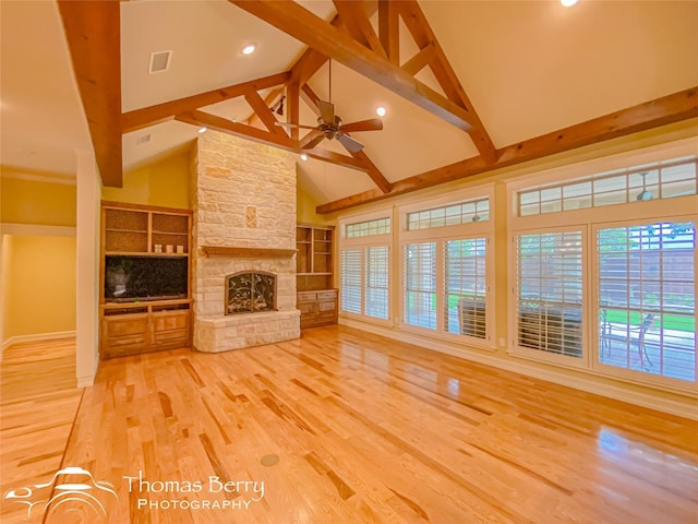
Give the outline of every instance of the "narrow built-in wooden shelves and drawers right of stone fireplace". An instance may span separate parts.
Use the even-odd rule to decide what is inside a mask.
[[[332,226],[299,224],[296,230],[297,302],[301,327],[337,322],[337,289],[333,288]]]

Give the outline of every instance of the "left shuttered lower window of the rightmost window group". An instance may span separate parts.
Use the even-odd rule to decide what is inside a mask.
[[[517,236],[517,343],[582,356],[581,231]]]

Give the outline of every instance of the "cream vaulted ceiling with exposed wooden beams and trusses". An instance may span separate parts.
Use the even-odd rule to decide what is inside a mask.
[[[204,126],[306,152],[299,183],[333,212],[698,117],[698,2],[0,5],[2,164],[70,171],[60,154],[89,136],[112,186]],[[160,51],[168,67],[149,73]],[[345,122],[388,112],[350,133],[359,152],[302,150],[318,100]]]

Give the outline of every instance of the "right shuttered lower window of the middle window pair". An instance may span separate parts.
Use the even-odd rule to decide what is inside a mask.
[[[486,338],[486,239],[445,242],[446,331]]]

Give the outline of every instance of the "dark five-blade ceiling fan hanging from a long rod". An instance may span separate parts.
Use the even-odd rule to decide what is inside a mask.
[[[332,99],[332,62],[329,63],[329,99]],[[317,126],[301,126],[297,123],[276,122],[277,126],[299,129],[311,129],[312,131],[301,141],[302,150],[312,150],[323,140],[336,139],[348,151],[357,153],[363,148],[363,144],[349,136],[347,133],[358,131],[378,131],[383,129],[383,120],[371,118],[358,122],[344,123],[341,118],[335,112],[335,105],[332,102],[317,100],[320,117]]]

